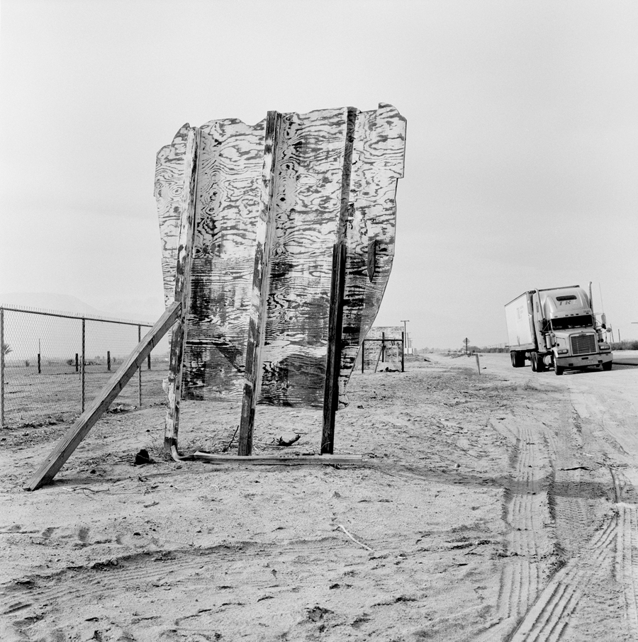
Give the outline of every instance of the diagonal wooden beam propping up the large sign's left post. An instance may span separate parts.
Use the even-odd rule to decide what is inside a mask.
[[[80,415],[77,422],[67,430],[67,433],[57,444],[52,453],[45,459],[44,463],[33,475],[25,490],[40,488],[55,477],[57,471],[64,466],[65,461],[77,448],[80,441],[86,437],[89,430],[94,427],[103,412],[108,409],[111,402],[118,396],[122,388],[128,383],[135,371],[144,363],[147,354],[157,345],[159,339],[166,334],[174,324],[180,312],[179,303],[172,303],[164,314],[159,317],[157,323],[149,330],[146,336],[133,350],[128,359],[120,366],[118,371],[109,379],[101,392],[89,407]]]

